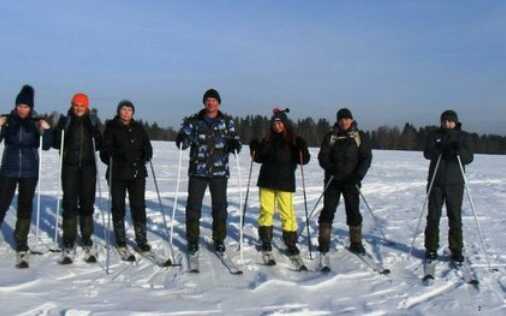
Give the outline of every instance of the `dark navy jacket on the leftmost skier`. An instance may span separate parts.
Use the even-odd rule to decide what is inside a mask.
[[[7,116],[2,127],[0,141],[5,142],[0,174],[14,178],[37,178],[39,175],[40,144],[39,130],[34,116],[21,119],[13,111]],[[52,131],[46,130],[42,135],[42,149],[48,150],[52,142]]]

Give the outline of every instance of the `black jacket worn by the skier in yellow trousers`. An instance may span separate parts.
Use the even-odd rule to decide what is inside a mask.
[[[295,170],[300,163],[307,164],[310,159],[307,146],[299,149],[289,144],[282,135],[264,139],[254,148],[254,161],[261,163],[257,185],[261,188],[295,192]]]

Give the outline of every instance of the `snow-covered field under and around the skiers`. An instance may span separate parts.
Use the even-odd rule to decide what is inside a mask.
[[[248,150],[241,153],[242,193],[248,172]],[[2,148],[0,147],[0,151]],[[312,160],[305,168],[309,208],[312,208],[322,191],[323,172],[312,151]],[[184,153],[182,193],[175,223],[175,249],[178,258],[184,252],[184,205],[186,200],[188,152]],[[175,196],[177,149],[173,143],[155,144],[155,168],[160,183],[163,203],[170,214]],[[232,176],[229,181],[229,237],[227,246],[235,262],[239,239],[240,188],[237,184],[235,161],[231,160]],[[343,205],[340,205],[333,230],[332,272],[323,275],[314,272],[317,260],[310,261],[305,233],[300,239],[309,272],[295,272],[288,260],[277,253],[278,265],[260,264],[255,250],[258,215],[257,188],[253,187],[246,219],[244,274],[234,276],[227,272],[207,247],[201,247],[201,273],[185,272],[182,267],[161,269],[146,259],[129,265],[111,252],[111,273],[104,269],[103,226],[96,225],[96,243],[100,245],[99,263],[90,265],[76,260],[72,266],[57,264],[58,254],[47,252],[54,234],[54,214],[57,188],[56,151],[44,152],[42,176],[43,243],[32,248],[45,253],[31,257],[31,268],[14,268],[15,253],[12,231],[15,205],[9,211],[0,235],[0,306],[1,315],[505,315],[506,314],[506,158],[504,156],[477,155],[468,168],[470,187],[477,208],[485,243],[491,261],[498,272],[489,272],[480,252],[479,237],[469,203],[464,203],[464,238],[467,254],[480,276],[480,291],[463,283],[448,262],[437,268],[437,280],[432,287],[422,285],[421,258],[423,234],[420,234],[414,251],[409,247],[417,218],[424,199],[428,162],[419,152],[374,151],[373,165],[363,185],[363,192],[379,218],[375,226],[362,203],[367,248],[386,267],[388,276],[379,275],[364,266],[343,247],[348,244],[344,224]],[[254,165],[256,183],[259,166]],[[102,188],[106,187],[101,173]],[[301,188],[300,172],[297,173]],[[152,178],[147,187],[149,239],[163,254],[164,229],[159,212]],[[104,197],[106,197],[104,190]],[[299,224],[304,219],[302,190],[295,198]],[[202,244],[209,242],[211,233],[210,199],[204,200]],[[107,210],[107,200],[97,199],[96,219]],[[34,211],[35,214],[35,211]],[[35,223],[35,216],[34,216]],[[425,220],[423,225],[425,224]],[[423,226],[422,225],[422,226]],[[279,225],[278,225],[279,227]],[[441,243],[447,244],[447,220],[441,222]],[[317,244],[317,226],[311,225],[313,245]],[[387,241],[380,236],[383,230]],[[35,229],[32,229],[34,232]],[[420,231],[421,233],[421,231]],[[133,230],[129,226],[129,237]],[[33,234],[32,234],[33,235]],[[275,230],[275,245],[283,248],[281,231]],[[78,249],[78,254],[80,249]],[[442,253],[442,250],[441,250]],[[313,254],[314,256],[314,254]],[[315,256],[314,256],[315,257]]]

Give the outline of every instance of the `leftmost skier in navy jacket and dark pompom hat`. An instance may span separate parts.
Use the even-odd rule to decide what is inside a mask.
[[[52,133],[49,124],[35,116],[34,90],[23,86],[16,97],[16,107],[0,117],[0,141],[5,142],[0,166],[0,226],[18,188],[17,221],[14,230],[16,265],[28,267],[28,233],[32,218],[32,200],[39,177],[40,135],[42,147],[51,146]],[[44,132],[46,131],[46,132]]]

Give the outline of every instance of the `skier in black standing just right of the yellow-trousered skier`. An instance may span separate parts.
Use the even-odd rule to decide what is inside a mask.
[[[361,185],[371,166],[371,160],[371,148],[364,133],[358,130],[351,111],[347,108],[340,109],[337,112],[337,123],[325,136],[318,154],[320,166],[325,170],[324,183],[333,176],[325,191],[319,218],[319,250],[322,255],[329,251],[332,222],[341,194],[344,196],[346,224],[350,229],[349,249],[358,254],[365,253],[357,186]]]

